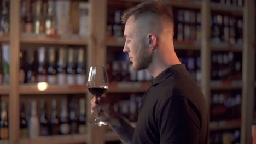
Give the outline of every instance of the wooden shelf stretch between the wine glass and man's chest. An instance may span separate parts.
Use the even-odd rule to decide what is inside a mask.
[[[112,82],[109,83],[107,93],[144,93],[151,85],[151,82]]]

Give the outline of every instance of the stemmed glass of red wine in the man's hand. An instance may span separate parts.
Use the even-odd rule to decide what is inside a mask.
[[[108,75],[106,69],[99,65],[99,66],[91,66],[87,87],[89,92],[96,97],[96,103],[98,103],[97,98],[101,97],[103,93],[105,93],[108,89]],[[89,125],[107,125],[106,122],[100,121],[100,118],[97,116],[93,122],[89,123]]]

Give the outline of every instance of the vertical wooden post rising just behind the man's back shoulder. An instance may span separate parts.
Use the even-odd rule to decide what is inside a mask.
[[[201,48],[201,65],[202,65],[202,92],[205,95],[208,107],[210,106],[211,98],[211,49],[210,49],[210,32],[211,32],[211,9],[210,0],[202,1],[201,8],[201,34],[202,34],[202,48]],[[210,108],[210,107],[209,107]]]

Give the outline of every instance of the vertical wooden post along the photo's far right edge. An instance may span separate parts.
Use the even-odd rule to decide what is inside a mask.
[[[243,8],[243,68],[241,143],[252,143],[254,111],[255,1],[245,0]]]

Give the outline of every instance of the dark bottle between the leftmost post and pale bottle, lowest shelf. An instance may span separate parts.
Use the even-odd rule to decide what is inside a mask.
[[[27,120],[25,115],[24,104],[20,104],[20,138],[27,139],[28,131],[27,131]]]

